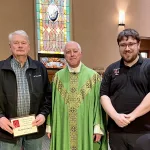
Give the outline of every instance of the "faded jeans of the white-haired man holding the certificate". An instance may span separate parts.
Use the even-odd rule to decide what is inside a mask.
[[[0,141],[0,150],[42,150],[42,138],[26,140],[21,137],[16,144]]]

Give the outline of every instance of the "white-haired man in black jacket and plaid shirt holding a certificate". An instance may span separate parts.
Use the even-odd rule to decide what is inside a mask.
[[[45,118],[51,109],[47,71],[28,56],[30,43],[25,31],[9,34],[9,45],[12,55],[0,62],[0,149],[41,150]],[[22,132],[16,132],[19,127]]]

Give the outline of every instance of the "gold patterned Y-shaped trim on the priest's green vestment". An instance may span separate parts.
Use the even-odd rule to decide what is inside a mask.
[[[97,82],[100,82],[98,74],[94,74],[78,91],[78,76],[79,74],[70,73],[70,91],[67,91],[64,88],[63,83],[58,79],[57,76],[54,78],[56,88],[64,99],[65,104],[68,106],[70,150],[78,149],[77,110],[93,86]]]

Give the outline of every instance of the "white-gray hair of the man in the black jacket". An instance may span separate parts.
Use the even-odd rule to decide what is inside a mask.
[[[12,41],[14,35],[21,35],[21,36],[24,36],[24,37],[26,37],[27,41],[29,42],[29,36],[28,36],[28,34],[27,34],[25,31],[23,31],[23,30],[17,30],[17,31],[14,31],[14,32],[10,33],[9,36],[8,36],[9,42]],[[29,43],[30,43],[30,42],[29,42]]]

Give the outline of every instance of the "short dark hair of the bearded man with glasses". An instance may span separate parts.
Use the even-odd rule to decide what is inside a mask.
[[[123,40],[124,37],[128,38],[129,37],[132,37],[133,39],[137,40],[137,42],[139,43],[141,41],[140,39],[140,36],[139,36],[139,33],[134,30],[134,29],[125,29],[123,31],[121,31],[119,34],[118,34],[118,38],[117,38],[117,43],[119,45],[119,42]]]

